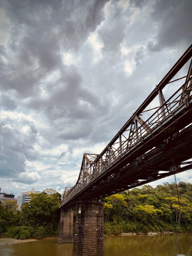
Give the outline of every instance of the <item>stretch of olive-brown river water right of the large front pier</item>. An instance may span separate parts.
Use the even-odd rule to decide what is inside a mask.
[[[153,256],[171,256],[175,234],[156,236],[109,236],[105,239],[106,256],[137,256],[150,252]],[[192,245],[192,236],[180,234],[179,254],[186,254]]]

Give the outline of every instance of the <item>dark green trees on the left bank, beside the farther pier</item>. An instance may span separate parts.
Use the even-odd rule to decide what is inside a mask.
[[[16,239],[57,236],[60,202],[61,195],[54,189],[31,194],[30,202],[22,205],[21,212],[10,202],[0,202],[0,234]]]

